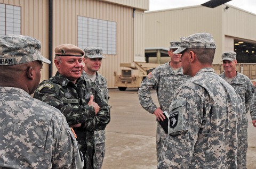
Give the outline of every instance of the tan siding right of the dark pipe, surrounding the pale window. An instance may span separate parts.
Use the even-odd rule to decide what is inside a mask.
[[[116,55],[105,55],[99,71],[114,87],[114,71],[120,63],[133,61],[133,9],[94,0],[56,0],[53,2],[53,50],[59,44],[77,45],[77,16],[116,22]],[[53,51],[54,54],[54,51]],[[53,65],[53,74],[57,71]]]

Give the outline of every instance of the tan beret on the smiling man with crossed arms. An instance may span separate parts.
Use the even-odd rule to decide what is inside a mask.
[[[55,56],[84,56],[84,50],[72,45],[72,44],[62,44],[55,47]]]

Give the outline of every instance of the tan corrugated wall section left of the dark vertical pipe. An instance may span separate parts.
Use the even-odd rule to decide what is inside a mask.
[[[34,37],[42,42],[42,54],[49,58],[48,52],[48,1],[42,0],[0,0],[0,3],[21,6],[21,35]],[[41,81],[48,79],[49,66],[43,65]]]

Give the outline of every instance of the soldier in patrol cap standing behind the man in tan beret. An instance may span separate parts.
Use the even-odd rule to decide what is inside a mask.
[[[93,90],[99,89],[102,98],[108,102],[108,88],[106,79],[99,74],[102,58],[102,48],[86,47],[84,49],[83,62],[85,64],[82,77],[85,79],[87,86],[91,86]],[[95,154],[93,156],[94,169],[101,168],[103,158],[105,156],[105,129],[94,131]]]

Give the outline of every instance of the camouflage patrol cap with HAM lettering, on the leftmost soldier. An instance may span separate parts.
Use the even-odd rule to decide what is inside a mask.
[[[41,42],[23,35],[0,37],[0,65],[15,65],[33,61],[50,64],[41,52]]]

